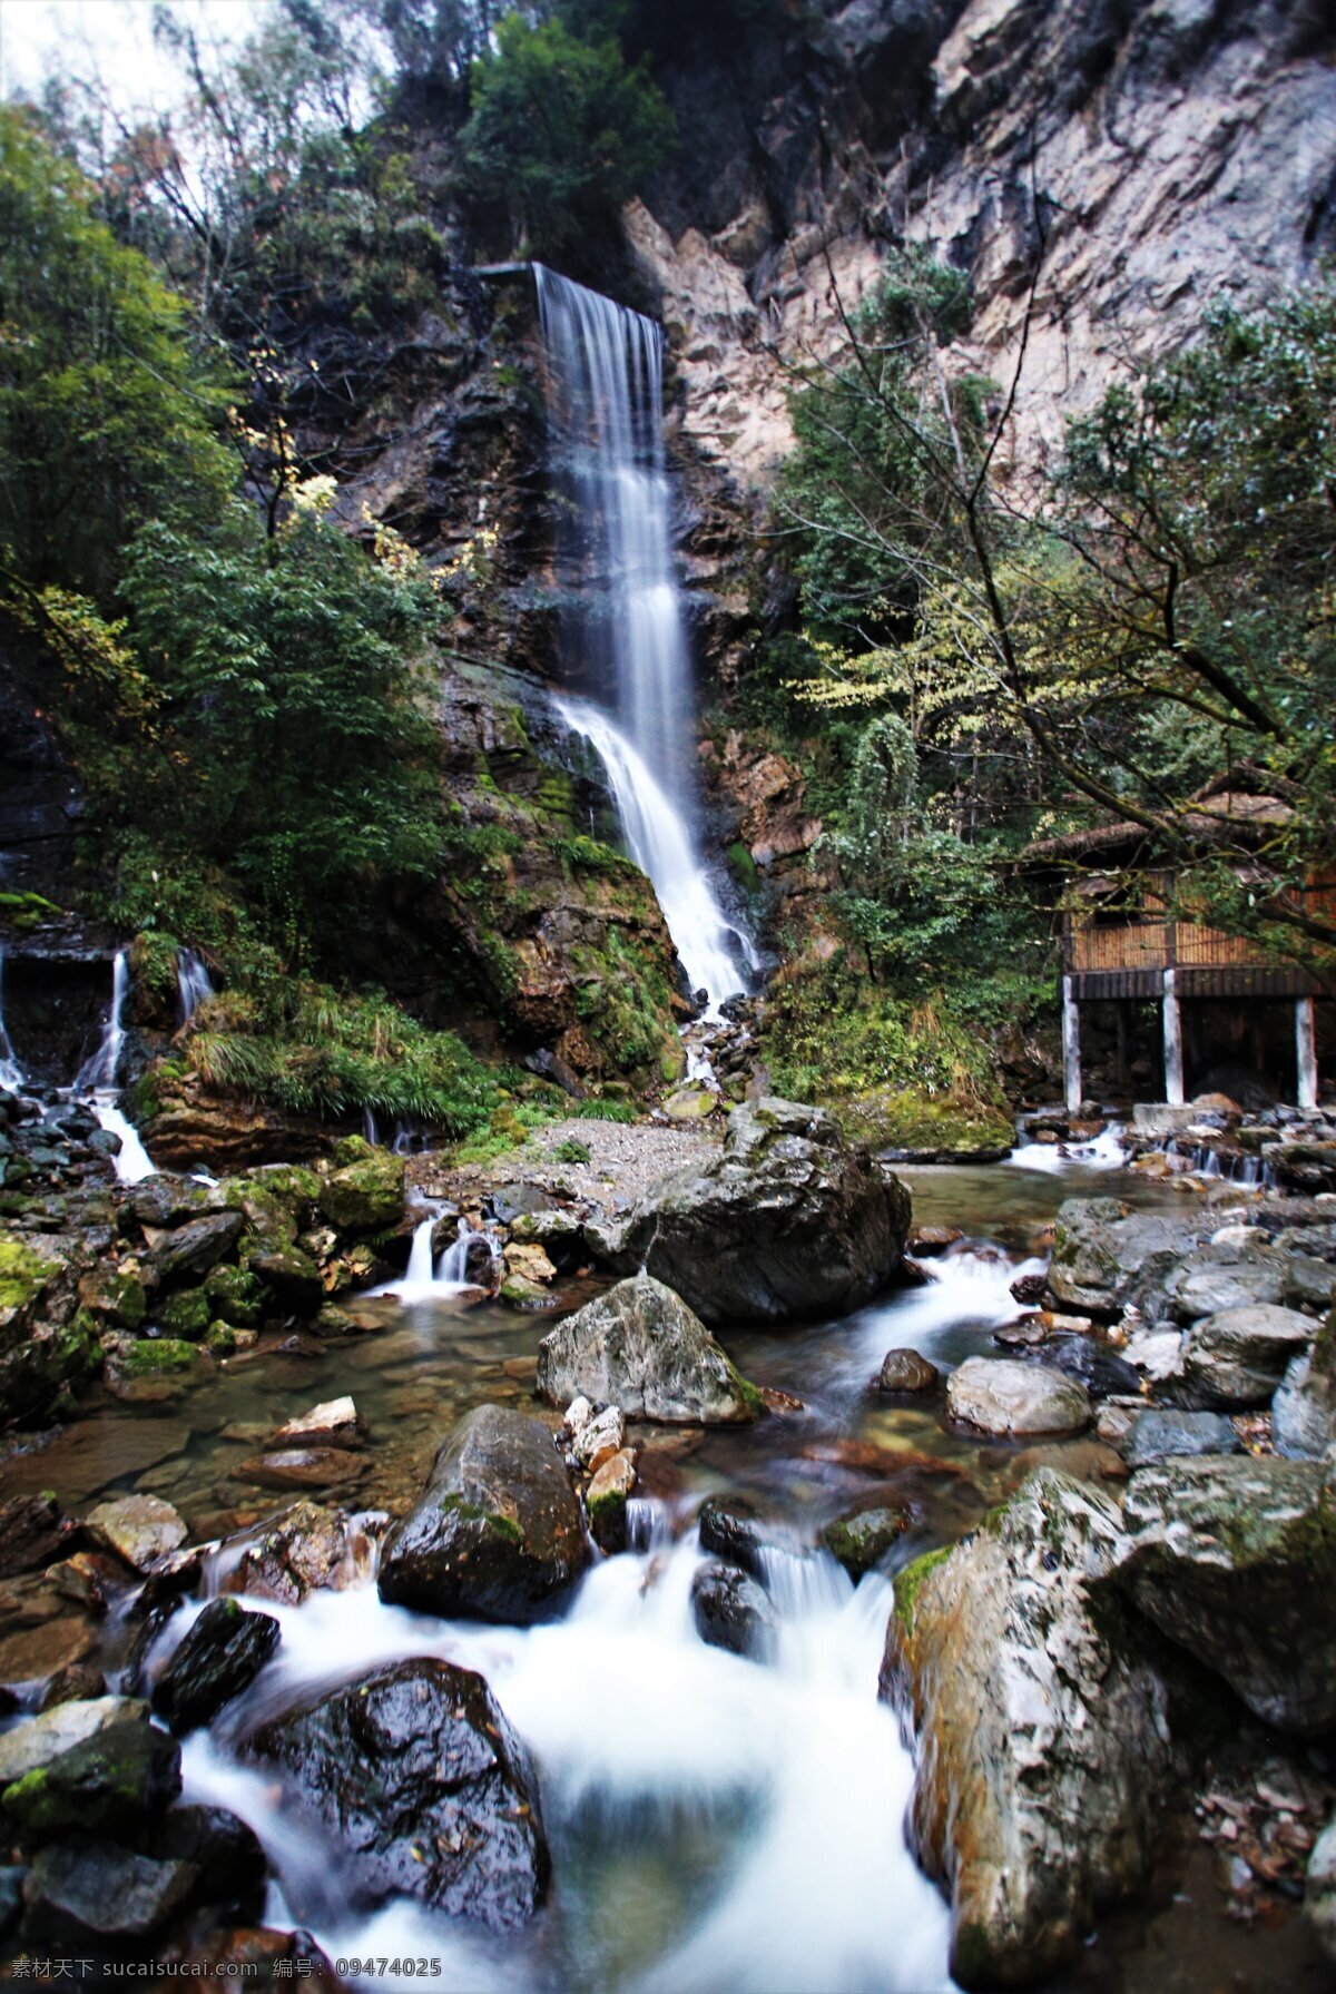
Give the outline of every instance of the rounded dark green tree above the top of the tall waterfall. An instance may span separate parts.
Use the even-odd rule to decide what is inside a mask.
[[[504,199],[534,253],[560,255],[666,158],[674,118],[612,38],[582,42],[560,20],[506,14],[473,66],[461,134],[465,185]]]

